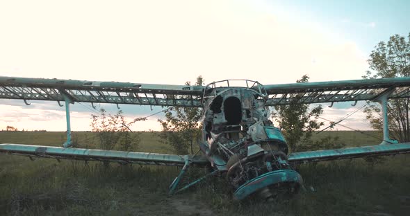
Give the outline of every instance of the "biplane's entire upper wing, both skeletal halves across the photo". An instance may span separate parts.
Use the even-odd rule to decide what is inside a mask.
[[[225,81],[229,83],[229,80]],[[262,85],[257,82],[256,86],[251,86],[249,89],[257,89],[267,93],[270,97],[265,101],[265,105],[272,106],[288,105],[295,102],[317,103],[375,100],[386,89],[395,89],[388,98],[408,98],[410,96],[409,87],[410,78],[383,78],[268,85]],[[212,88],[170,84],[0,76],[0,98],[25,101],[63,101],[64,98],[61,92],[65,92],[74,102],[202,107],[204,96],[207,96],[206,89],[211,90]],[[181,99],[179,96],[190,97]]]

